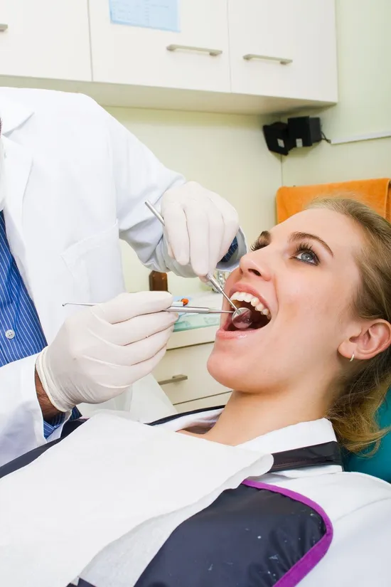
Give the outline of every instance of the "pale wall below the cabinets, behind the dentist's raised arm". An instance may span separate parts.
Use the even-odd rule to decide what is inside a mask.
[[[279,158],[267,151],[257,116],[111,108],[164,164],[227,198],[249,240],[274,223],[274,195],[281,185]],[[127,290],[147,290],[149,271],[123,246]],[[174,294],[202,289],[199,280],[169,275]]]

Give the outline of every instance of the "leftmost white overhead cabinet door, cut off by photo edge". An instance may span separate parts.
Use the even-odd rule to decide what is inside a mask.
[[[1,0],[0,23],[0,75],[91,81],[87,0]]]

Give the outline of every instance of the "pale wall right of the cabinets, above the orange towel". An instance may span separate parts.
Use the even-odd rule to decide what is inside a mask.
[[[321,112],[329,138],[391,131],[391,1],[336,0],[339,101]],[[391,176],[391,138],[322,142],[283,159],[285,185]]]

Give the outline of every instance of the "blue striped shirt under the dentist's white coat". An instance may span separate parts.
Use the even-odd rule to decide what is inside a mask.
[[[46,347],[45,335],[35,306],[28,295],[6,237],[4,213],[0,212],[0,366],[39,353]],[[79,418],[75,408],[72,418]],[[43,423],[48,438],[64,421],[59,414]]]

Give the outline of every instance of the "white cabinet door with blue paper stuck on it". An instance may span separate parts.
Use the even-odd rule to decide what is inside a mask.
[[[178,6],[180,32],[171,32],[114,24],[109,1],[90,0],[94,81],[230,91],[227,0]]]

